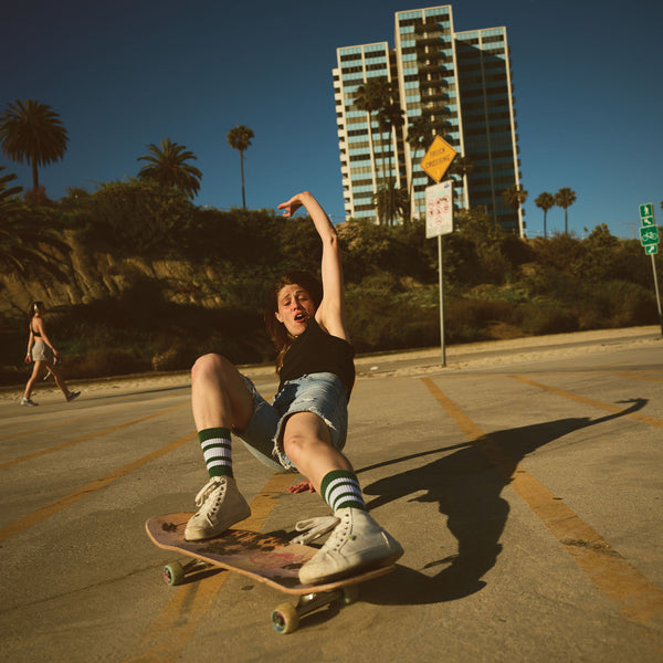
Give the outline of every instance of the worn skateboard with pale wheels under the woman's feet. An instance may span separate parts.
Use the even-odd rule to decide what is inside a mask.
[[[173,550],[191,561],[172,562],[164,568],[168,585],[181,585],[187,573],[218,567],[235,571],[288,594],[298,596],[296,606],[282,603],[272,612],[272,625],[278,633],[292,633],[299,625],[299,618],[326,606],[354,603],[357,586],[394,570],[396,566],[367,570],[320,585],[302,585],[298,571],[318,550],[313,546],[292,543],[281,533],[261,534],[246,529],[228,529],[220,536],[202,541],[187,541],[185,528],[192,513],[155,516],[145,524],[154,544]]]

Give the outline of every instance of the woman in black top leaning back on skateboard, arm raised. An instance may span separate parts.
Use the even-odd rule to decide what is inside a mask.
[[[286,274],[272,288],[265,320],[281,378],[273,402],[221,355],[204,355],[193,365],[193,419],[210,481],[196,498],[200,508],[185,536],[210,538],[251,515],[232,473],[232,431],[267,466],[303,474],[338,519],[299,571],[302,582],[313,583],[392,564],[403,551],[366,511],[357,476],[341,453],[355,352],[346,328],[338,236],[308,192],[278,209],[290,218],[302,206],[323,243],[322,292],[303,272]]]

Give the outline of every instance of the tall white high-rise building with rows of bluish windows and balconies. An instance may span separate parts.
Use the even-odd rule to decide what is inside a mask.
[[[459,152],[450,175],[454,206],[483,208],[523,235],[522,207],[503,198],[522,177],[506,29],[455,32],[452,8],[442,6],[398,12],[394,34],[393,49],[337,49],[346,218],[390,223],[408,209],[423,215],[433,182],[419,162],[440,135]]]

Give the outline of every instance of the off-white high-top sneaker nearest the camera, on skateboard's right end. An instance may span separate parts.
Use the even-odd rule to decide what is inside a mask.
[[[393,564],[401,545],[359,508],[339,508],[340,523],[325,545],[299,569],[299,581],[313,585]]]

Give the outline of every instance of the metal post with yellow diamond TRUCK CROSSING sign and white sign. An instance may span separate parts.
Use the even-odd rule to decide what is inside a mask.
[[[440,180],[456,156],[456,150],[440,136],[435,136],[420,166],[435,182],[425,189],[425,236],[438,238],[438,270],[440,286],[440,348],[442,366],[446,366],[444,346],[444,276],[442,272],[442,235],[453,232],[453,182]]]

